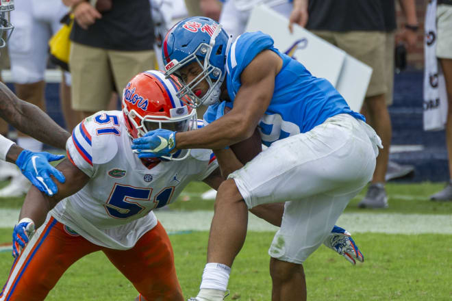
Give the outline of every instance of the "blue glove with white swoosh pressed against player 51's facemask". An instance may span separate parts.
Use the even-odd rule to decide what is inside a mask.
[[[141,138],[134,139],[131,148],[138,158],[155,158],[170,155],[176,146],[176,132],[167,129],[149,131]]]

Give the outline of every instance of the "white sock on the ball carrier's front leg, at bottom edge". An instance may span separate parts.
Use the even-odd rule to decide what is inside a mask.
[[[207,263],[197,298],[201,300],[223,300],[231,268],[222,263]]]

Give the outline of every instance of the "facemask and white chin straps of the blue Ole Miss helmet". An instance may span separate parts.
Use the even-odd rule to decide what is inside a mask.
[[[215,39],[221,32],[221,25],[217,25],[212,37],[210,38],[209,44],[201,43],[197,49],[185,57],[183,60],[178,62],[177,60],[172,60],[166,65],[165,76],[169,77],[171,75],[176,75],[181,82],[180,90],[177,92],[177,96],[181,101],[184,101],[186,105],[192,108],[197,108],[200,105],[213,105],[217,103],[220,99],[221,85],[225,79],[226,73],[223,73],[220,68],[210,64],[210,56],[215,48]],[[229,38],[227,42],[227,51],[229,50],[231,44],[231,39]],[[216,47],[216,53],[222,52],[223,45]],[[179,72],[181,68],[184,68],[193,62],[196,62],[201,67],[201,73],[194,77],[192,81],[186,83],[184,79],[181,78]],[[208,92],[205,93],[201,98],[197,96],[193,90],[202,81],[207,81],[209,85]]]

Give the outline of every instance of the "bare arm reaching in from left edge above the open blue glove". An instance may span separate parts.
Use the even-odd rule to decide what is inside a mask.
[[[39,107],[18,99],[4,83],[0,83],[0,117],[22,133],[56,148],[64,149],[70,136]]]

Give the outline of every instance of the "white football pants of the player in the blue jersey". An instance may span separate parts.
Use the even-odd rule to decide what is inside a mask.
[[[303,263],[330,233],[347,204],[372,179],[381,140],[349,114],[274,142],[234,179],[249,209],[286,202],[268,254]]]

